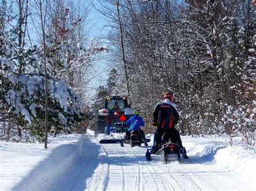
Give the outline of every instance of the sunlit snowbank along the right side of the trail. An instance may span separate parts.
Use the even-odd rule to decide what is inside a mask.
[[[181,136],[187,154],[204,164],[218,164],[223,169],[240,173],[248,183],[256,182],[255,146],[248,147],[240,138],[233,138],[230,146],[226,136],[189,137]]]

